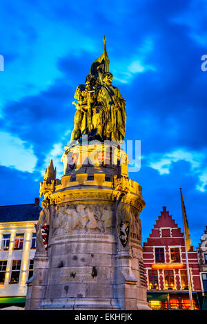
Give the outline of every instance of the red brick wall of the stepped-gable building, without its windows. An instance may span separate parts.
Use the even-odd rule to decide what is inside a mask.
[[[170,257],[170,248],[173,247],[179,248],[180,260],[177,263],[173,262]],[[156,263],[155,261],[156,248],[164,249],[164,261],[162,263]],[[147,242],[144,242],[143,258],[148,292],[186,292],[186,289],[181,287],[181,271],[186,269],[184,234],[181,233],[181,229],[177,227],[177,224],[175,224],[175,220],[172,219],[172,216],[169,216],[168,211],[166,211],[166,207],[163,207],[161,216],[159,216],[158,220],[156,221],[150,237],[147,239]],[[194,251],[193,247],[190,247],[190,251],[188,251],[188,263],[192,278],[193,292],[201,292],[197,251]],[[150,287],[149,285],[148,270],[152,269],[157,269],[157,289],[155,289],[155,286]],[[166,287],[164,278],[165,270],[173,271],[175,285],[172,287],[172,289]]]

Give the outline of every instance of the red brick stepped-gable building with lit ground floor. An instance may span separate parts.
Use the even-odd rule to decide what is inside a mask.
[[[184,234],[163,207],[152,234],[144,242],[144,268],[148,302],[152,309],[190,309]],[[197,251],[190,247],[188,263],[193,305],[199,309],[201,284]]]

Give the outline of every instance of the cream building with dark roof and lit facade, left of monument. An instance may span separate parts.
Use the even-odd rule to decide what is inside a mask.
[[[0,308],[25,304],[39,211],[39,198],[34,204],[0,206]]]

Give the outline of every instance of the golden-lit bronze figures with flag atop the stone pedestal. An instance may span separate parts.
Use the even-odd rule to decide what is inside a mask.
[[[126,101],[118,88],[112,86],[109,59],[104,36],[103,54],[90,67],[85,84],[79,84],[75,92],[77,111],[74,119],[72,141],[79,141],[83,135],[90,140],[113,140],[122,142],[126,128]]]

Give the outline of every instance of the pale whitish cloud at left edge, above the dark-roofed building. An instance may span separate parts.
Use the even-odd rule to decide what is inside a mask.
[[[32,146],[10,133],[0,132],[0,165],[32,173],[37,163]]]

